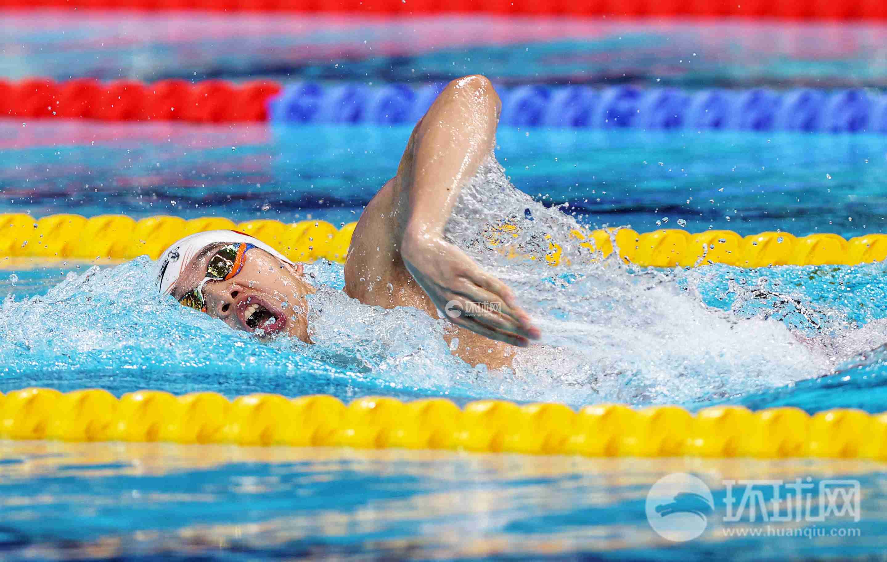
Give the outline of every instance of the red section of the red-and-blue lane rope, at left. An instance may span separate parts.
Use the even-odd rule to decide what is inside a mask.
[[[4,2],[5,0],[0,0]],[[0,80],[0,117],[101,121],[268,121],[267,102],[277,82],[163,80],[146,84],[76,79]]]

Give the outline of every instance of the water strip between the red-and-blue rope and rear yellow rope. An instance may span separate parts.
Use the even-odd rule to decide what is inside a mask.
[[[338,226],[394,173],[410,130],[0,121],[0,212]],[[517,188],[589,226],[851,238],[887,223],[880,135],[503,127],[497,155]]]

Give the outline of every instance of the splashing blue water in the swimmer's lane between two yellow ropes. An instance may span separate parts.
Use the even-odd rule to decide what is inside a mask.
[[[32,262],[30,269],[0,272],[0,293],[7,295],[0,308],[4,390],[51,386],[69,391],[101,386],[117,395],[141,388],[176,394],[214,391],[232,398],[252,392],[288,396],[326,393],[346,402],[366,394],[389,394],[404,400],[447,396],[459,403],[489,397],[518,402],[546,400],[575,407],[620,401],[680,403],[691,410],[716,403],[739,403],[753,410],[789,405],[810,413],[835,407],[873,413],[887,410],[887,352],[878,348],[887,342],[887,323],[883,322],[887,317],[887,283],[883,281],[887,266],[882,263],[753,270],[713,266],[702,274],[671,272],[664,277],[663,297],[673,297],[672,289],[678,291],[677,304],[687,309],[703,305],[711,311],[711,316],[703,316],[711,323],[719,324],[718,310],[724,311],[726,338],[735,334],[735,343],[725,350],[713,349],[726,354],[726,359],[708,367],[703,348],[688,351],[687,356],[671,355],[667,349],[652,355],[648,360],[654,363],[668,363],[676,357],[702,362],[698,369],[685,373],[695,379],[695,386],[687,379],[679,383],[681,371],[676,370],[669,387],[653,395],[647,386],[663,376],[655,364],[634,365],[632,376],[628,372],[610,375],[601,367],[579,386],[576,373],[569,370],[555,371],[549,379],[529,385],[523,381],[522,386],[512,386],[501,380],[503,375],[488,374],[483,368],[471,370],[449,356],[443,344],[424,342],[429,356],[440,363],[429,369],[421,355],[417,358],[413,353],[412,340],[404,344],[389,332],[406,322],[419,333],[417,340],[426,335],[433,338],[441,321],[413,315],[409,309],[403,314],[379,315],[329,295],[312,300],[310,306],[326,308],[326,317],[318,318],[318,330],[338,325],[341,337],[327,338],[323,333],[324,337],[315,338],[319,342],[316,346],[289,340],[262,345],[153,293],[153,262],[145,258],[114,268],[92,267],[77,262],[34,267]],[[340,265],[318,263],[309,270],[322,286],[341,289]],[[648,273],[639,273],[634,280],[630,273],[618,278],[628,284],[644,283]],[[53,286],[62,280],[61,285]],[[680,293],[687,291],[688,285],[693,291]],[[632,295],[629,291],[616,302]],[[683,312],[677,310],[665,322],[680,321]],[[655,311],[650,314],[649,325],[634,328],[632,333],[654,348],[670,346],[665,341],[655,342],[659,326],[653,318]],[[336,320],[347,315],[355,315],[350,316],[354,321],[350,326]],[[534,316],[547,322],[541,314]],[[367,319],[381,327],[375,332],[359,328]],[[740,324],[734,325],[737,322]],[[717,332],[721,330],[718,324],[702,325],[700,330]],[[738,357],[750,352],[743,350],[749,345],[745,339],[765,346],[765,332],[758,337],[757,331],[779,325],[784,329],[777,328],[777,335],[786,337],[779,347],[773,347],[774,353],[794,353],[806,347],[815,353],[798,355],[797,363],[764,357],[765,362],[772,361],[774,371],[785,370],[774,377],[762,374],[755,378],[745,371],[760,361],[757,355],[729,359],[731,354]],[[551,324],[546,328],[546,340],[566,337],[561,333],[564,329],[561,324]],[[695,332],[695,328],[691,330]],[[789,333],[795,335],[789,337]],[[695,335],[701,338],[703,332]],[[378,347],[365,347],[372,338],[381,338],[375,342]],[[763,348],[766,355],[768,348]],[[598,360],[604,362],[620,353],[619,349],[604,349]],[[662,366],[667,373],[669,365]],[[755,368],[767,371],[766,364]],[[522,380],[520,374],[514,378],[505,375],[505,379],[516,384]],[[600,387],[604,379],[610,383],[608,390]]]

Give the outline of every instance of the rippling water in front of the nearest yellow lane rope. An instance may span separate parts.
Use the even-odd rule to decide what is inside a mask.
[[[5,442],[5,560],[734,560],[877,557],[887,531],[879,464],[589,459],[437,451]],[[859,537],[655,535],[663,473],[694,472],[723,512],[730,478],[859,480]],[[768,525],[750,526],[766,532]],[[791,524],[770,525],[779,529]],[[816,526],[814,526],[816,527]],[[775,533],[776,531],[771,531]]]

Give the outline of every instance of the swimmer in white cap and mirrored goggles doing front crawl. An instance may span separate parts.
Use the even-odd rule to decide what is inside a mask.
[[[382,308],[420,308],[451,322],[453,352],[491,369],[511,364],[515,347],[540,332],[514,293],[443,236],[463,184],[496,144],[501,110],[483,76],[450,82],[412,129],[396,176],[365,207],[345,262],[345,293]],[[182,238],[161,255],[157,285],[185,306],[235,330],[281,333],[310,343],[306,295],[315,292],[301,263],[233,230]],[[438,315],[469,303],[498,303],[473,314]],[[495,310],[498,306],[498,311]],[[453,317],[455,316],[455,317]]]

